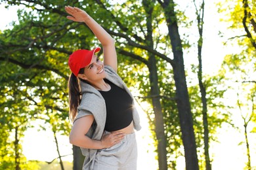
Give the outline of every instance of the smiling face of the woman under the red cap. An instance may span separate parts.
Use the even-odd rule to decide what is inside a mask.
[[[91,63],[85,67],[83,75],[79,75],[80,78],[89,82],[95,82],[106,78],[106,72],[104,71],[104,64],[98,59],[98,56],[93,55]]]

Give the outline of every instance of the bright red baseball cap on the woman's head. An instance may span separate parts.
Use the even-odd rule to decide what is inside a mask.
[[[77,76],[81,68],[84,68],[91,63],[91,60],[93,59],[93,54],[98,51],[100,51],[100,47],[97,47],[91,51],[76,50],[75,52],[73,52],[68,59],[68,65],[70,66],[70,70],[72,71],[72,73]]]

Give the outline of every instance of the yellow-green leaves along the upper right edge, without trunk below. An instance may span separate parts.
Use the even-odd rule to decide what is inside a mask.
[[[225,14],[228,16],[227,21],[232,23],[230,29],[240,33],[245,30],[243,18],[245,16],[244,11],[247,10],[248,16],[246,24],[252,35],[252,39],[255,40],[256,32],[253,30],[253,22],[251,22],[251,20],[255,20],[255,5],[253,5],[253,1],[247,1],[247,3],[247,8],[244,8],[242,1],[238,1],[238,3],[231,3],[228,10],[225,10]],[[222,10],[223,9],[221,9],[221,12],[224,12]],[[253,105],[253,101],[255,101],[254,75],[256,72],[256,48],[251,42],[252,41],[245,36],[237,36],[234,37],[234,39],[230,39],[228,44],[239,46],[241,50],[234,54],[226,55],[222,65],[226,78],[228,78],[229,82],[233,82],[232,87],[230,88],[240,94],[238,97],[239,105],[241,107],[247,106],[247,109],[245,109],[246,113],[244,114],[249,115],[253,115],[253,107],[255,107]],[[249,105],[249,103],[252,103],[252,105]],[[233,105],[233,107],[238,109],[238,105]],[[250,116],[247,117],[249,118]],[[255,122],[253,119],[252,121]]]

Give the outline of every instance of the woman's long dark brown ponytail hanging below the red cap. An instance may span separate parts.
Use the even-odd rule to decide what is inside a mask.
[[[85,68],[79,70],[78,74],[83,74]],[[77,115],[77,107],[81,103],[80,78],[71,73],[68,80],[68,101],[70,103],[70,119],[74,122]]]

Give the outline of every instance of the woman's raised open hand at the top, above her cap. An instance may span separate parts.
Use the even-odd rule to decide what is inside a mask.
[[[89,15],[84,11],[77,7],[65,7],[66,12],[72,16],[67,16],[68,20],[72,20],[74,22],[84,22]]]

